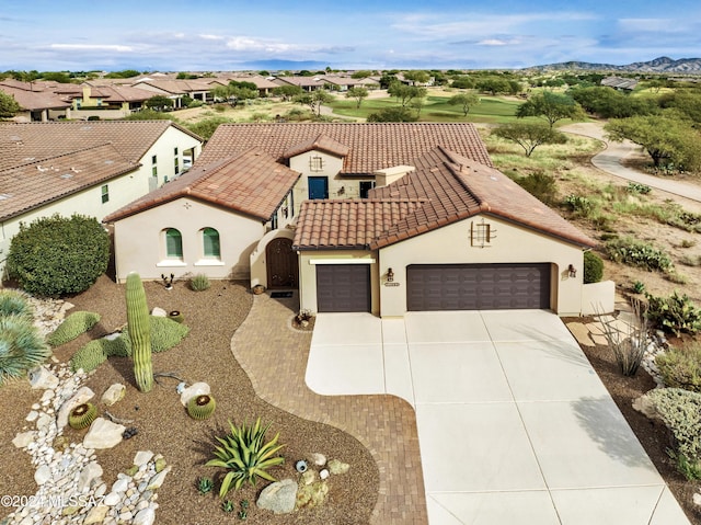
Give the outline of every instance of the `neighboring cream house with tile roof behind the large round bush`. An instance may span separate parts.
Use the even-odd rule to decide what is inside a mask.
[[[102,220],[181,174],[202,142],[170,121],[0,124],[0,275],[20,222]]]

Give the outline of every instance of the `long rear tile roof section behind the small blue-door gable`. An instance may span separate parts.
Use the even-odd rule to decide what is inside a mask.
[[[308,145],[321,135],[348,148],[342,174],[372,174],[393,166],[411,164],[437,145],[492,166],[484,142],[469,123],[222,124],[197,162],[215,162],[254,146],[284,162],[291,148]]]

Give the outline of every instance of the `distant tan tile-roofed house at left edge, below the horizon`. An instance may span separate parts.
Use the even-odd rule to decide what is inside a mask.
[[[11,95],[22,109],[15,122],[47,122],[71,118],[71,103],[54,90],[54,83],[21,82],[5,79],[0,81],[0,91]]]

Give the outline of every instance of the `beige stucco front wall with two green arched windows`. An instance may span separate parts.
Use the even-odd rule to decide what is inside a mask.
[[[182,235],[182,261],[165,259],[164,229]],[[221,258],[204,259],[203,229],[219,232]],[[129,272],[142,278],[159,279],[161,274],[205,273],[211,278],[248,278],[250,255],[265,233],[260,219],[227,212],[192,198],[177,198],[115,222],[117,279]]]

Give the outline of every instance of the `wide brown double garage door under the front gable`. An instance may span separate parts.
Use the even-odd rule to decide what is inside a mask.
[[[550,264],[420,264],[406,269],[406,308],[550,308]]]

